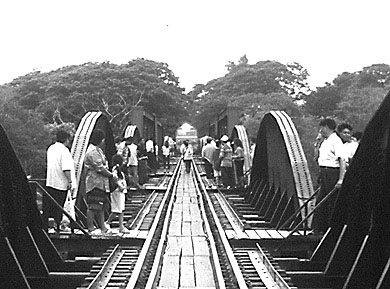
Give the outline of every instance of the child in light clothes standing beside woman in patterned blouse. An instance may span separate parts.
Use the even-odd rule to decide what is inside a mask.
[[[123,225],[123,212],[125,210],[125,201],[127,193],[127,183],[125,174],[123,173],[123,158],[121,155],[114,155],[112,157],[112,173],[118,178],[118,187],[111,193],[111,214],[108,217],[106,226],[109,227],[113,219],[118,216],[119,218],[119,232],[130,233],[128,229]]]

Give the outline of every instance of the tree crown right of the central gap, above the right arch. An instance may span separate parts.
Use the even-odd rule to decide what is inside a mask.
[[[251,97],[244,97],[245,102],[237,100],[241,96],[264,97],[272,94],[272,102],[278,103],[278,97],[284,95],[293,103],[300,98],[298,92],[303,93],[306,91],[303,88],[308,88],[305,85],[308,74],[297,63],[286,66],[276,61],[260,61],[249,65],[246,56],[243,56],[238,64],[229,62],[227,68],[229,72],[224,77],[213,79],[206,85],[196,85],[189,93],[190,115],[196,120],[195,126],[201,134],[207,134],[208,125],[215,121],[216,112],[228,104],[240,102],[240,105],[244,105],[243,111],[252,105],[255,108],[262,104]]]

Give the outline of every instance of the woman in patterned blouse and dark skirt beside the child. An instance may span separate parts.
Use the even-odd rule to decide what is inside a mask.
[[[104,224],[104,210],[109,206],[108,178],[113,177],[117,181],[117,178],[108,169],[107,159],[102,150],[104,139],[105,135],[102,130],[93,131],[84,160],[87,225],[88,231],[92,234],[96,232],[94,231],[94,221],[97,222],[103,234],[109,230]]]

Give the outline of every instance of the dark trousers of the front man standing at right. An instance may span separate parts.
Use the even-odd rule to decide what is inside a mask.
[[[316,199],[316,206],[325,198],[336,185],[339,179],[339,168],[320,168],[320,191]],[[317,208],[313,216],[312,228],[317,232],[325,232],[330,226],[332,220],[333,209],[336,201],[336,194],[328,198],[320,208]]]

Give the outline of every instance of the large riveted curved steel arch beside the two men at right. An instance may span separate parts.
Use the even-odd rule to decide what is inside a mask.
[[[251,182],[256,180],[286,191],[295,209],[314,193],[297,130],[283,111],[267,113],[260,124],[251,173]],[[306,216],[304,210],[301,216]]]

